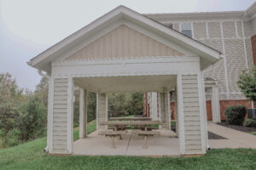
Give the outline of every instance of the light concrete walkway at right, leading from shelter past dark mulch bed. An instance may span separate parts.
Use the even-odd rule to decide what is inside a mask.
[[[209,139],[211,148],[253,148],[256,149],[256,136],[208,122],[208,131],[226,139]]]

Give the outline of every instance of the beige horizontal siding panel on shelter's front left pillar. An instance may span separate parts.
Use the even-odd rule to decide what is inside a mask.
[[[57,78],[53,100],[53,152],[67,152],[67,78]]]

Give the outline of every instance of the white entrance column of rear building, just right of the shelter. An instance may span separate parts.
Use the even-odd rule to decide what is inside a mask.
[[[218,87],[212,87],[212,122],[220,122]]]

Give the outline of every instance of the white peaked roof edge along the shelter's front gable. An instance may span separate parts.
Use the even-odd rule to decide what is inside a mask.
[[[54,46],[46,49],[43,53],[38,54],[36,57],[30,59],[30,61],[27,64],[31,65],[32,67],[38,68],[37,65],[44,59],[49,58],[49,56],[54,57],[53,59],[55,59],[55,57],[57,56],[56,53],[61,52],[62,49],[64,49],[68,45],[71,45],[79,37],[82,37],[87,33],[89,33],[90,31],[95,30],[98,26],[102,26],[102,24],[105,24],[106,22],[108,22],[108,20],[118,20],[119,17],[123,16],[123,14],[125,14],[125,17],[131,18],[131,20],[137,20],[141,22],[144,26],[150,26],[151,29],[154,29],[156,31],[160,31],[162,33],[165,33],[166,35],[169,35],[170,37],[178,40],[179,43],[188,44],[191,50],[194,50],[195,48],[197,48],[198,51],[200,51],[200,53],[207,54],[207,57],[211,56],[212,59],[220,58],[221,53],[218,52],[216,49],[210,48],[205,44],[195,41],[190,37],[186,37],[182,33],[178,31],[174,31],[169,27],[161,24],[160,22],[157,22],[155,20],[152,20],[146,17],[143,14],[139,14],[136,11],[132,10],[131,8],[126,8],[125,6],[119,6],[117,8],[114,8],[107,14],[102,15],[102,17],[94,20],[89,25],[79,29],[79,31],[76,31],[72,35],[64,38],[63,40],[61,40],[61,42],[57,42]]]

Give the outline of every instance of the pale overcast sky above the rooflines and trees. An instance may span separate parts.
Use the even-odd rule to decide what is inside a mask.
[[[26,62],[125,5],[142,14],[245,10],[256,0],[0,0],[0,73],[34,90],[41,77]]]

